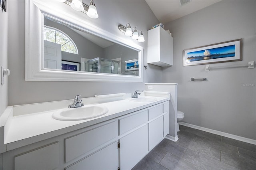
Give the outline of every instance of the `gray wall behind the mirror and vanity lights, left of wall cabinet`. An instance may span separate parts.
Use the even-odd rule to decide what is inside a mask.
[[[162,80],[162,70],[158,66],[148,65],[148,69],[143,70],[143,82],[44,82],[25,81],[25,2],[8,1],[9,5],[9,30],[8,32],[8,65],[12,72],[9,76],[8,105],[19,105],[27,103],[38,103],[46,101],[58,101],[73,99],[75,95],[82,97],[92,97],[94,95],[104,95],[111,93],[132,93],[136,89],[144,89],[144,83],[158,83]],[[89,4],[89,1],[83,1]],[[131,26],[136,26],[142,30],[145,42],[134,43],[144,48],[144,65],[147,56],[147,30],[158,24],[158,20],[148,7],[145,1],[109,1],[97,0],[95,2],[99,18],[91,19],[84,15],[86,22],[91,22],[95,26],[106,29],[106,31],[124,36],[118,30],[118,25],[125,25],[130,22]],[[72,8],[70,8],[72,10]]]

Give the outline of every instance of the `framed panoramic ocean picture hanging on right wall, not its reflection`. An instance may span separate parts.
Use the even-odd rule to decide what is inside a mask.
[[[241,61],[242,39],[183,50],[183,66]]]

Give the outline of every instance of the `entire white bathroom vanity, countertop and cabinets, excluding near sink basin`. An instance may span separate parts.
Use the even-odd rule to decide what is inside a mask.
[[[139,98],[154,99],[146,102],[122,94],[83,99],[108,113],[79,121],[52,118],[70,100],[8,107],[8,119],[1,123],[2,168],[132,169],[168,134],[170,93],[142,93]]]

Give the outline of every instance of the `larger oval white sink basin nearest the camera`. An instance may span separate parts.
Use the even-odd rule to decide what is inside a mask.
[[[108,113],[108,108],[98,105],[85,105],[77,108],[66,108],[55,111],[54,119],[60,121],[79,121],[102,116]]]

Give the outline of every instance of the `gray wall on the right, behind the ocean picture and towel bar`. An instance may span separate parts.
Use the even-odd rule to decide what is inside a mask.
[[[174,66],[163,69],[164,83],[178,83],[183,122],[256,139],[256,1],[221,1],[165,24],[172,32]],[[182,50],[242,38],[243,61],[182,66]],[[227,67],[227,68],[225,68]],[[208,81],[192,82],[191,77]]]

